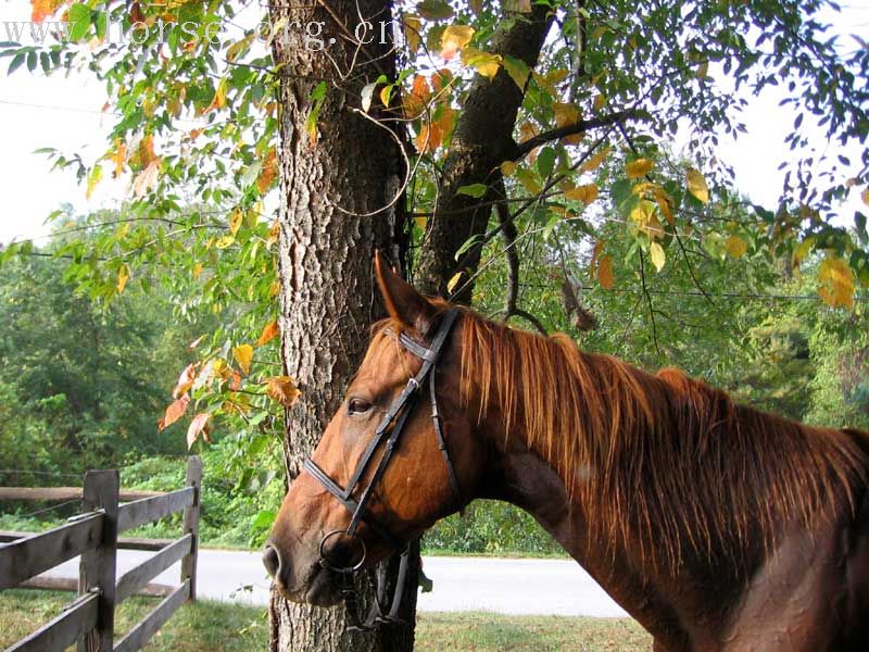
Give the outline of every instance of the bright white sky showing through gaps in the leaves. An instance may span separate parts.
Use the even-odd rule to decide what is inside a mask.
[[[27,21],[29,14],[28,0],[0,3],[0,40],[8,40],[5,22]],[[854,0],[843,7],[842,14],[824,17],[836,33],[865,36],[869,33],[869,1]],[[849,47],[854,43],[853,39],[845,42]],[[34,153],[53,147],[64,153],[78,152],[92,163],[106,152],[114,116],[102,113],[106,100],[102,84],[89,74],[46,76],[28,73],[26,66],[7,76],[9,61],[0,60],[0,188],[4,196],[0,243],[43,237],[50,230],[45,224],[47,215],[61,204],[72,204],[77,213],[116,208],[130,191],[128,178],[115,180],[106,175],[88,200],[84,185],[77,184],[72,172],[50,172],[47,156]],[[736,188],[770,208],[781,189],[783,172],[776,168],[788,158],[784,137],[794,118],[792,110],[778,106],[779,99],[774,91],[750,98],[751,105],[743,115],[748,134],[735,142],[722,137],[717,152],[734,167]],[[804,129],[813,128],[808,123],[804,123]],[[824,142],[819,131],[814,140]],[[841,153],[859,161],[857,147]],[[859,192],[853,192],[842,211],[845,223],[860,205]]]

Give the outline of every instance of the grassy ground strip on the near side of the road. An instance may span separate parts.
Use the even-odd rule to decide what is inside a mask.
[[[26,636],[59,613],[70,593],[3,591],[0,593],[0,649]],[[117,610],[116,629],[124,632],[156,605],[135,598]],[[484,613],[418,615],[416,650],[441,652],[648,652],[652,640],[628,619],[502,616]],[[255,652],[266,650],[265,610],[201,601],[189,604],[146,648],[148,652]],[[73,648],[71,648],[73,650]]]

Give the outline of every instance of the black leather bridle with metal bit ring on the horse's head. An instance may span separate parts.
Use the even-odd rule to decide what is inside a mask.
[[[365,451],[360,457],[356,468],[353,472],[350,482],[345,489],[342,489],[335,480],[332,480],[329,475],[323,471],[311,457],[307,457],[302,464],[302,468],[314,476],[314,479],[316,479],[324,489],[331,493],[338,500],[338,502],[344,505],[344,507],[347,507],[347,510],[352,514],[350,518],[350,525],[348,525],[347,530],[332,530],[326,534],[319,542],[320,566],[336,573],[341,581],[341,593],[344,597],[348,619],[350,622],[348,631],[371,631],[383,624],[406,625],[406,623],[399,617],[399,610],[401,607],[405,579],[407,576],[407,547],[410,542],[402,542],[399,538],[392,536],[387,528],[377,523],[377,521],[367,512],[366,507],[371,498],[374,489],[382,478],[383,473],[386,473],[387,466],[389,466],[392,454],[395,452],[395,448],[401,439],[404,426],[414,411],[420,388],[426,384],[426,381],[428,381],[429,401],[431,403],[431,421],[433,422],[434,435],[438,439],[438,448],[443,454],[443,460],[446,463],[446,473],[450,477],[450,485],[452,486],[456,504],[459,505],[459,507],[464,504],[462,502],[462,491],[458,487],[458,479],[455,475],[455,468],[453,468],[453,463],[450,461],[450,451],[446,448],[446,439],[443,436],[443,424],[441,423],[440,412],[438,411],[438,398],[434,391],[434,367],[438,363],[438,359],[440,358],[443,344],[446,341],[446,338],[450,336],[453,326],[455,325],[457,316],[458,311],[456,310],[449,310],[444,313],[443,319],[438,328],[437,334],[434,335],[434,339],[431,341],[430,347],[425,347],[424,344],[412,339],[405,333],[402,333],[399,336],[399,341],[401,342],[402,347],[419,358],[423,361],[423,366],[419,368],[419,372],[416,374],[416,376],[407,380],[407,386],[402,390],[399,398],[389,406],[389,410],[387,410],[382,421],[374,431],[374,438],[365,448]],[[385,444],[383,454],[380,456],[380,461],[377,463],[368,485],[362,490],[362,492],[357,492],[356,490],[361,485],[362,477],[365,475],[368,466],[370,466],[371,460],[374,459],[377,449],[380,448],[381,444]],[[354,498],[354,493],[358,493],[358,497]],[[368,612],[368,616],[365,618],[365,622],[360,620],[357,614],[357,595],[353,587],[353,574],[362,569],[362,567],[365,565],[365,557],[367,555],[365,543],[356,532],[360,523],[362,522],[365,522],[365,524],[378,537],[389,543],[393,550],[396,552],[401,551],[398,581],[392,593],[392,601],[389,609],[383,609],[387,592],[388,565],[388,560],[385,560],[378,567],[377,574],[374,578],[376,586],[375,601],[374,604],[371,604],[371,609]],[[362,553],[360,560],[349,566],[335,566],[329,561],[326,552],[326,543],[333,537],[349,537],[356,541]]]

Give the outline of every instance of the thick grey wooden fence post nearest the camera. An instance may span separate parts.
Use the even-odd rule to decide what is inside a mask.
[[[85,474],[81,500],[84,513],[103,510],[102,536],[97,546],[81,555],[78,574],[78,594],[95,589],[97,627],[78,641],[78,652],[112,652],[115,626],[115,573],[117,555],[117,471],[89,471]]]

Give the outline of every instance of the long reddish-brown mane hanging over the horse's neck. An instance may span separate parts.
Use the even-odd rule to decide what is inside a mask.
[[[463,310],[461,396],[565,480],[595,536],[676,567],[745,562],[786,524],[854,511],[867,457],[852,436],[735,404],[676,369],[647,374]],[[866,440],[869,441],[869,440]],[[638,536],[639,528],[639,536]],[[639,550],[638,550],[639,546]],[[747,563],[747,562],[746,562]]]

